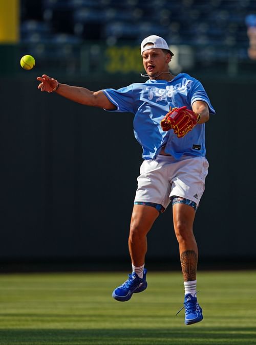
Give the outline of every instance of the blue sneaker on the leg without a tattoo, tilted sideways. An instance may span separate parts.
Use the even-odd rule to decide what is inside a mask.
[[[117,301],[125,302],[130,300],[133,293],[144,291],[147,288],[146,272],[144,268],[143,278],[139,278],[135,272],[128,274],[129,279],[113,291],[112,297]]]

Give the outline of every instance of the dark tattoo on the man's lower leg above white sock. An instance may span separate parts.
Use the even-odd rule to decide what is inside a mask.
[[[197,259],[197,254],[194,250],[186,250],[181,253],[180,262],[185,282],[197,279]]]

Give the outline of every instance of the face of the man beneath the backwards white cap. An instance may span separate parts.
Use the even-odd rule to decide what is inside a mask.
[[[142,53],[143,66],[149,77],[154,78],[161,72],[168,72],[170,54],[165,54],[162,49],[147,49]]]

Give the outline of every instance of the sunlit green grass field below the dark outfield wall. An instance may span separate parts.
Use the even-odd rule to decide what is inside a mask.
[[[125,273],[0,275],[0,344],[256,344],[256,271],[198,273],[204,320],[184,325],[179,272],[149,271],[148,288],[113,300]]]

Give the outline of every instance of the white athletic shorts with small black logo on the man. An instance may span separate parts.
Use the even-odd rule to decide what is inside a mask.
[[[137,178],[138,188],[134,202],[154,202],[165,209],[174,195],[194,201],[199,205],[208,173],[205,157],[158,155],[145,159]]]

